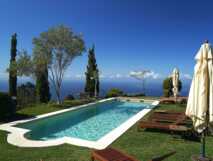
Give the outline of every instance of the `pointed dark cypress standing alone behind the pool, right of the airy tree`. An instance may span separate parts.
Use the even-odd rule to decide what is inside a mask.
[[[99,94],[99,71],[95,59],[95,47],[89,49],[88,65],[86,75],[85,92],[90,97],[96,97]]]

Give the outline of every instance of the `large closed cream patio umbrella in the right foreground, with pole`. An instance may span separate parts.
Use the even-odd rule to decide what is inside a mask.
[[[196,161],[208,161],[205,157],[205,132],[213,123],[213,49],[206,41],[195,57],[197,63],[188,97],[186,115],[193,121],[194,129],[202,133],[201,155]]]

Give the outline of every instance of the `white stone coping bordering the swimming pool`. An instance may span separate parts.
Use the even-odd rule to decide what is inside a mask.
[[[38,115],[38,116],[36,116],[34,118],[30,118],[30,119],[19,120],[19,121],[2,124],[2,125],[0,125],[0,130],[8,131],[9,134],[7,136],[7,142],[12,145],[18,146],[18,147],[49,147],[49,146],[56,146],[56,145],[61,145],[61,144],[67,143],[67,144],[72,144],[72,145],[76,145],[76,146],[82,146],[82,147],[101,150],[101,149],[106,148],[108,145],[110,145],[113,141],[115,141],[118,137],[120,137],[124,132],[126,132],[131,126],[133,126],[136,122],[138,122],[143,116],[145,116],[148,112],[150,112],[153,108],[155,108],[155,106],[157,106],[159,104],[159,101],[147,100],[147,103],[151,103],[152,108],[145,108],[145,109],[141,110],[136,115],[132,116],[127,121],[122,123],[117,128],[113,129],[112,131],[110,131],[109,133],[107,133],[105,136],[103,136],[102,138],[100,138],[97,141],[88,141],[88,140],[72,138],[72,137],[63,137],[63,138],[58,138],[58,139],[54,139],[54,140],[45,140],[45,141],[30,140],[30,139],[27,139],[24,137],[24,135],[27,132],[29,132],[30,130],[15,127],[15,125],[33,121],[33,120],[37,120],[37,119],[41,119],[41,118],[45,118],[48,116],[53,116],[56,114],[67,112],[67,111],[84,108],[89,105],[94,105],[97,103],[106,102],[106,101],[114,100],[114,99],[117,99],[117,98],[103,99],[103,100],[99,100],[99,101],[96,101],[93,103],[88,103],[85,105],[75,106],[75,107],[71,107],[68,109],[59,110],[56,112]],[[126,101],[125,99],[122,99],[122,98],[118,98],[118,99]],[[146,103],[146,100],[144,100],[144,103]]]

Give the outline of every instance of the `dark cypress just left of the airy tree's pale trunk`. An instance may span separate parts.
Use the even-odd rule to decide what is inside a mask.
[[[47,103],[50,100],[48,69],[45,67],[36,74],[36,96],[39,102]]]

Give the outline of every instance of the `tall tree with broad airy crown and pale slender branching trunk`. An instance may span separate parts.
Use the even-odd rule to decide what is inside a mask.
[[[60,25],[41,33],[38,38],[33,39],[33,44],[36,46],[33,52],[34,64],[39,67],[36,70],[44,71],[44,67],[48,67],[49,78],[54,87],[57,102],[60,104],[65,71],[85,50],[82,36]]]

